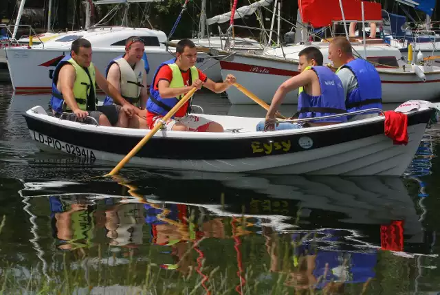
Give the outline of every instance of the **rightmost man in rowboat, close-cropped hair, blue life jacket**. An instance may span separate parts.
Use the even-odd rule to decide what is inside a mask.
[[[338,67],[336,74],[344,86],[347,112],[382,109],[382,83],[374,65],[355,58],[350,42],[344,37],[333,39],[329,45],[329,60]],[[349,116],[350,121],[378,116],[377,112]]]

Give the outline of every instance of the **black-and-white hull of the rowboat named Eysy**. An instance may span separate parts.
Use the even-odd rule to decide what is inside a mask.
[[[34,113],[35,108],[42,109],[27,111],[25,120],[37,145],[85,157],[90,162],[119,162],[149,132],[58,120]],[[377,117],[365,122],[265,133],[158,132],[131,163],[184,171],[397,176],[414,157],[432,112],[428,109],[408,115],[410,140],[406,146],[394,145],[384,135],[384,118]],[[221,117],[226,120],[225,116],[205,116],[218,122]],[[243,120],[227,118],[236,126]],[[255,126],[259,120],[250,119],[250,125]]]

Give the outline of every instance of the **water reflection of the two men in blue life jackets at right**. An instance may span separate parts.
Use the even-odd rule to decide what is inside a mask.
[[[266,246],[271,254],[271,271],[279,272],[276,234],[263,230]],[[323,230],[320,241],[336,241],[337,230]],[[318,250],[313,243],[314,234],[292,234],[294,245],[294,270],[289,273],[285,285],[301,289],[323,289],[327,294],[342,294],[347,283],[366,283],[375,276],[377,250],[366,252]]]

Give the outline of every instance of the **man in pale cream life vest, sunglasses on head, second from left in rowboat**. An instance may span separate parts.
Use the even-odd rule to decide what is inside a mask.
[[[107,65],[105,76],[122,97],[135,108],[137,120],[131,120],[131,128],[148,129],[146,124],[146,69],[143,56],[145,45],[142,38],[131,36],[125,41],[125,54],[113,58]],[[113,105],[113,99],[107,96],[104,105]]]

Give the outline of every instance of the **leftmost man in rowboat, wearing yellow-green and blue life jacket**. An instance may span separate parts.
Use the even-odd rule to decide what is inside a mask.
[[[96,84],[122,107],[97,107]],[[91,44],[82,38],[72,42],[71,54],[56,65],[50,105],[54,116],[72,112],[79,120],[90,116],[104,126],[129,127],[134,114],[133,105],[124,100],[91,63]]]

